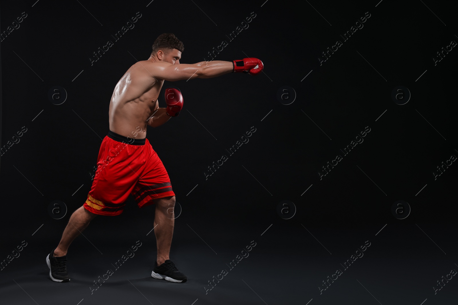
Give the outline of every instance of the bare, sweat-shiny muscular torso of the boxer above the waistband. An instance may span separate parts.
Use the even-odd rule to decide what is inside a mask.
[[[116,134],[134,139],[146,138],[147,120],[157,108],[164,80],[155,79],[145,69],[154,63],[140,61],[132,65],[114,87],[109,106],[109,128]]]

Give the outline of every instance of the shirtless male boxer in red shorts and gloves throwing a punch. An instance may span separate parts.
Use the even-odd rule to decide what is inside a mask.
[[[53,281],[70,280],[66,255],[76,236],[97,215],[121,214],[129,194],[140,208],[156,204],[154,234],[158,255],[151,276],[176,283],[187,280],[169,259],[175,194],[162,161],[146,139],[147,125],[158,127],[178,116],[183,107],[180,91],[166,89],[167,107],[159,108],[158,95],[164,80],[212,78],[230,72],[256,75],[261,73],[263,64],[255,58],[180,64],[183,50],[183,43],[174,34],[160,35],[149,59],[132,65],[114,87],[109,133],[100,146],[93,185],[86,202],[71,215],[59,245],[46,257]]]

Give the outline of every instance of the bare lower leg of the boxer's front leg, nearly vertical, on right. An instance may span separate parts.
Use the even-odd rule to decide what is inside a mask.
[[[154,234],[158,247],[158,266],[169,259],[170,245],[172,244],[175,224],[175,196],[154,199],[156,211],[154,215]]]

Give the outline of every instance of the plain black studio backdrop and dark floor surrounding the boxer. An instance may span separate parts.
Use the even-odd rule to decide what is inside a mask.
[[[182,210],[175,220],[171,259],[180,257],[177,266],[190,280],[183,284],[187,288],[176,291],[177,285],[158,284],[146,272],[145,298],[149,287],[162,285],[170,290],[158,304],[168,298],[171,304],[191,304],[197,298],[196,305],[306,304],[311,299],[310,305],[420,304],[425,299],[425,305],[456,303],[453,280],[437,294],[431,289],[458,263],[457,165],[453,162],[436,180],[433,175],[442,161],[458,155],[453,110],[458,51],[453,48],[436,65],[433,60],[442,47],[458,41],[453,1],[148,3],[33,0],[0,5],[1,32],[27,13],[0,44],[2,146],[27,128],[20,142],[1,156],[0,259],[21,241],[30,244],[22,259],[0,271],[2,286],[11,288],[2,291],[8,294],[5,304],[33,304],[31,298],[38,304],[59,304],[53,303],[58,299],[49,296],[51,291],[74,296],[69,304],[81,299],[81,304],[93,304],[95,296],[86,290],[105,269],[97,270],[100,253],[111,253],[115,261],[125,252],[120,249],[142,240],[148,247],[145,256],[154,260],[155,239],[146,235],[153,228],[154,209],[138,209],[130,197],[123,214],[96,218],[84,232],[86,238],[72,244],[69,257],[75,253],[78,258],[69,271],[79,269],[88,277],[80,283],[84,288],[72,282],[75,286],[65,286],[65,294],[59,292],[56,287],[62,284],[46,278],[44,264],[90,190],[101,139],[109,130],[116,82],[137,60],[149,57],[154,39],[163,32],[184,43],[181,63],[209,59],[207,52],[225,40],[229,44],[216,60],[256,57],[265,69],[257,76],[228,74],[164,84],[159,106],[165,107],[164,89],[178,86],[184,109],[166,124],[148,127],[147,139],[169,173]],[[114,41],[111,35],[137,12],[142,16],[135,27]],[[256,17],[249,27],[229,41],[226,35],[251,12]],[[344,41],[340,35],[366,12],[370,18],[364,27]],[[114,45],[91,65],[93,52],[108,40]],[[322,52],[337,40],[343,45],[320,65]],[[53,86],[65,88],[68,95],[61,105],[48,98]],[[294,89],[285,100],[295,97],[289,105],[277,98],[282,86]],[[408,103],[398,105],[391,98],[397,86],[409,89]],[[229,156],[226,150],[252,126],[256,132],[249,142]],[[371,131],[364,142],[320,180],[322,166],[343,155],[340,150],[367,126]],[[206,180],[207,166],[222,155],[229,160]],[[53,200],[68,209],[62,219],[48,213]],[[295,210],[290,219],[277,212],[282,200],[294,203],[295,208],[288,208],[287,217]],[[397,200],[409,203],[408,217],[392,214]],[[219,292],[205,294],[202,286],[219,273],[220,265],[252,240],[260,245],[252,253],[257,258],[247,258],[233,272],[239,273],[231,279],[237,284],[222,281],[214,288]],[[366,240],[376,245],[368,251],[371,256],[320,294],[316,286]],[[221,254],[227,258],[215,258]],[[336,254],[341,258],[334,258]],[[150,262],[145,257],[142,263]],[[137,278],[117,275],[119,285]],[[251,278],[250,289],[237,276]],[[377,283],[362,282],[368,278]],[[20,281],[22,289],[17,287]],[[46,288],[30,294],[39,282]],[[112,293],[105,289],[101,300],[107,302],[120,301],[121,295],[147,302],[135,289],[118,290],[118,295],[115,286]],[[156,304],[154,298],[159,296],[150,293],[148,299]]]

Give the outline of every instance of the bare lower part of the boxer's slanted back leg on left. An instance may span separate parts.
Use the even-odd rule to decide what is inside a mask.
[[[71,242],[86,229],[89,222],[94,219],[95,216],[97,216],[97,214],[89,212],[87,209],[84,209],[83,206],[73,212],[65,227],[64,233],[62,233],[59,246],[54,250],[54,256],[67,255],[68,247]]]

